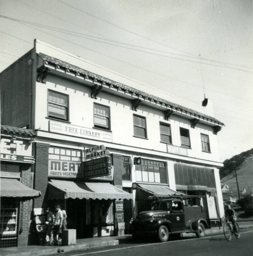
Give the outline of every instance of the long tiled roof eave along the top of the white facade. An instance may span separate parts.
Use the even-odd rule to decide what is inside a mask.
[[[104,86],[109,87],[110,89],[113,90],[117,90],[117,91],[125,91],[131,95],[134,95],[135,97],[139,97],[143,100],[147,100],[150,102],[155,102],[161,105],[165,106],[165,109],[172,109],[178,113],[181,114],[188,114],[190,116],[192,116],[193,118],[198,118],[200,121],[205,121],[205,122],[209,122],[212,124],[216,124],[219,126],[224,126],[224,123],[220,122],[219,120],[217,120],[214,117],[202,114],[200,112],[188,109],[184,106],[178,105],[176,103],[172,103],[168,100],[153,96],[151,94],[142,92],[140,90],[137,90],[135,88],[132,88],[130,86],[127,86],[126,84],[120,83],[120,82],[116,82],[113,81],[109,78],[103,77],[101,75],[89,72],[87,70],[81,69],[77,66],[74,66],[68,62],[65,62],[63,60],[51,57],[49,55],[43,54],[43,53],[39,53],[38,54],[39,57],[44,61],[44,66],[45,67],[49,67],[49,68],[54,68],[56,70],[62,70],[62,72],[71,74],[72,76],[76,76],[76,77],[80,77],[82,76],[82,78],[86,79],[86,80],[93,80],[96,81],[98,83],[103,84]]]

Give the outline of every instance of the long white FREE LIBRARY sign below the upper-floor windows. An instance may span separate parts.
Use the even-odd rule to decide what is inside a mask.
[[[75,137],[81,137],[86,139],[94,139],[112,142],[112,136],[110,132],[89,129],[77,125],[68,123],[62,123],[58,121],[49,121],[49,131],[53,133],[59,133],[62,135],[71,135]]]

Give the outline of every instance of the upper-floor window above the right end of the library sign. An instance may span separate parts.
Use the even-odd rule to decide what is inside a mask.
[[[109,106],[94,103],[94,127],[110,130]]]

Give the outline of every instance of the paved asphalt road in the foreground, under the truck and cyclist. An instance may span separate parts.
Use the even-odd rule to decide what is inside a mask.
[[[64,254],[72,256],[252,256],[253,231],[244,231],[240,239],[233,237],[231,241],[226,241],[223,234],[202,239],[173,240],[166,243],[158,243],[153,239],[139,241],[129,239],[118,246]]]

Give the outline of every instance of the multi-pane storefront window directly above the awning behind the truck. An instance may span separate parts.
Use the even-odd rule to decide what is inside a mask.
[[[168,183],[165,162],[142,159],[142,163],[135,165],[136,181]]]

